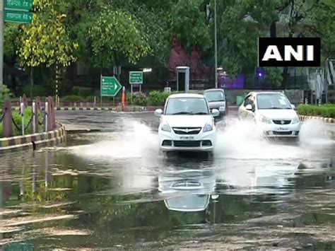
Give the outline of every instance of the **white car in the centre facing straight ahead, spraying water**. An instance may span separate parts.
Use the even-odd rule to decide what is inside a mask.
[[[160,117],[161,151],[213,152],[216,142],[214,117],[219,111],[210,112],[204,95],[172,94],[165,102],[164,111],[155,110],[155,115]]]

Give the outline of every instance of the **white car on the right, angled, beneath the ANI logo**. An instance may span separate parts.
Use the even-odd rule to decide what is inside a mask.
[[[300,120],[295,106],[280,92],[249,93],[238,109],[241,120],[255,122],[266,137],[298,139]]]

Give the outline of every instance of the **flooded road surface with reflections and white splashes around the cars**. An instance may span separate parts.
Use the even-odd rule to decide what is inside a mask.
[[[167,158],[152,114],[113,116],[77,117],[107,132],[1,156],[6,250],[335,249],[335,141],[323,124],[306,122],[290,144],[232,118],[213,159]]]

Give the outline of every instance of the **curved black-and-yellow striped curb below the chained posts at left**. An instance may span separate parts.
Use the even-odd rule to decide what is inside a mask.
[[[39,134],[28,134],[25,136],[13,136],[0,139],[0,154],[13,153],[16,151],[36,150],[40,147],[63,144],[66,141],[66,130],[63,124],[57,122],[58,129]]]

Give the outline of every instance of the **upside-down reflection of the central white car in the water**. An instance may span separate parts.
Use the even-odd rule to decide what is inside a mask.
[[[206,210],[211,195],[215,194],[216,179],[213,173],[196,172],[164,174],[158,177],[158,191],[165,206],[172,211],[196,212]]]

